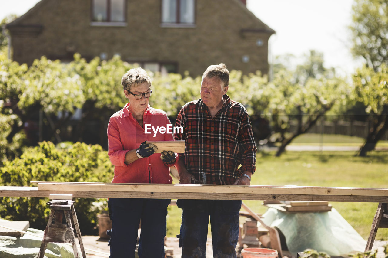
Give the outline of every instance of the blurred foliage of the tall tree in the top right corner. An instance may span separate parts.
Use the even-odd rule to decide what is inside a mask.
[[[356,0],[353,4],[352,53],[377,69],[388,64],[388,4],[384,0]]]

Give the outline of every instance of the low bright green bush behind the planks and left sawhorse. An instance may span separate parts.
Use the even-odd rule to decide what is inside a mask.
[[[31,181],[110,182],[113,167],[106,151],[99,145],[50,142],[27,148],[20,158],[6,161],[0,168],[1,184],[30,186]],[[0,199],[0,217],[10,220],[29,220],[31,227],[44,229],[49,216],[45,198]],[[83,234],[94,234],[96,213],[92,212],[95,198],[76,198],[80,229]]]

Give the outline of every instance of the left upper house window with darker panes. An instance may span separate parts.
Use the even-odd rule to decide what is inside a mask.
[[[125,0],[92,0],[92,22],[125,22]]]

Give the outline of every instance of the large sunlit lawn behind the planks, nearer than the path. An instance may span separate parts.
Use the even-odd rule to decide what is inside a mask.
[[[258,153],[252,185],[328,187],[387,187],[388,151],[372,151],[369,157],[354,157],[348,152],[287,152],[281,157],[274,153]],[[244,201],[252,210],[264,213],[262,201]],[[330,202],[359,234],[367,239],[378,203]],[[170,206],[167,235],[179,234],[181,210]],[[388,230],[379,229],[376,240],[388,240]]]

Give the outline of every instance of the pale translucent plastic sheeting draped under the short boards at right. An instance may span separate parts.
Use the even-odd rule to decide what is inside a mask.
[[[263,222],[277,227],[286,237],[289,252],[296,255],[307,248],[331,256],[364,252],[366,241],[334,208],[331,212],[286,213],[268,208]]]

